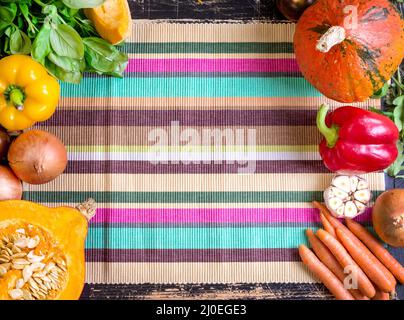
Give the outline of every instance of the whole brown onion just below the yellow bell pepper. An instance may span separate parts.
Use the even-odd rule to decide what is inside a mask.
[[[42,130],[24,132],[13,141],[8,161],[15,175],[30,184],[43,184],[66,169],[67,152],[62,141]]]

